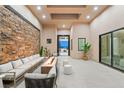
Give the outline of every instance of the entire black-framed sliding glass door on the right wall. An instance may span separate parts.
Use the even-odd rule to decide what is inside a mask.
[[[124,28],[100,35],[100,62],[124,71]]]

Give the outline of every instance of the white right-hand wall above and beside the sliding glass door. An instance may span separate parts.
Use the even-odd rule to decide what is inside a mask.
[[[92,59],[99,61],[99,35],[124,27],[124,6],[111,6],[91,24]]]

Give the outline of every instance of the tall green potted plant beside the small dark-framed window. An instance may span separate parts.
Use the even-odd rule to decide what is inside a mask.
[[[90,50],[91,48],[91,44],[88,43],[88,42],[85,42],[84,43],[84,46],[83,46],[83,59],[84,60],[88,60],[88,51]]]

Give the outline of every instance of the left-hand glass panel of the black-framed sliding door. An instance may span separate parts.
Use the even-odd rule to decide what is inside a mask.
[[[111,34],[101,36],[101,62],[111,65]]]

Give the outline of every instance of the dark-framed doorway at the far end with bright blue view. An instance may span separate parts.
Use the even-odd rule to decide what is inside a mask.
[[[57,53],[58,53],[58,56],[70,55],[70,36],[69,35],[57,36]]]

